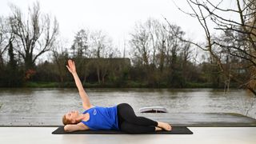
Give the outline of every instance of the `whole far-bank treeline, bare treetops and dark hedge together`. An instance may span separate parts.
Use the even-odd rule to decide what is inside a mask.
[[[86,87],[238,86],[222,74],[210,54],[198,58],[194,45],[182,40],[185,32],[181,27],[168,22],[149,18],[136,24],[126,43],[129,58],[125,58],[101,30],[78,30],[73,45],[65,46],[58,35],[57,19],[43,14],[38,3],[24,13],[26,17],[17,6],[11,10],[12,14],[0,18],[1,87],[74,87],[74,79],[66,70],[69,58]],[[48,54],[47,58],[39,61],[42,54]],[[241,59],[224,57],[229,58],[222,63],[226,70],[246,78],[249,72]]]

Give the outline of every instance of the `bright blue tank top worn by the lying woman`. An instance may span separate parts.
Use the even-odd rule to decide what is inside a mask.
[[[82,114],[90,114],[88,121],[82,121],[90,130],[119,130],[117,106],[101,107],[95,106]]]

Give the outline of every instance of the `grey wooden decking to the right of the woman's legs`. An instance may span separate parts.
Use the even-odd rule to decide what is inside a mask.
[[[256,119],[234,113],[147,114],[145,116],[156,121],[169,122],[175,126],[256,126]]]

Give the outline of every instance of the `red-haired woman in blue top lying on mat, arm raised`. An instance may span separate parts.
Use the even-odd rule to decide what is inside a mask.
[[[77,110],[66,113],[62,118],[65,131],[122,130],[130,134],[141,134],[157,130],[171,130],[168,123],[137,117],[133,108],[127,103],[113,107],[93,106],[78,78],[74,61],[68,60],[68,65],[66,67],[74,77],[85,111],[82,114],[79,114]]]

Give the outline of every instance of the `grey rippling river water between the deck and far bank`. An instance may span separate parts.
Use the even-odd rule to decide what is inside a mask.
[[[127,102],[135,112],[144,106],[164,106],[169,113],[238,113],[256,118],[256,98],[246,90],[214,89],[86,89],[95,106]],[[76,88],[0,89],[0,114],[65,114],[80,110]]]

